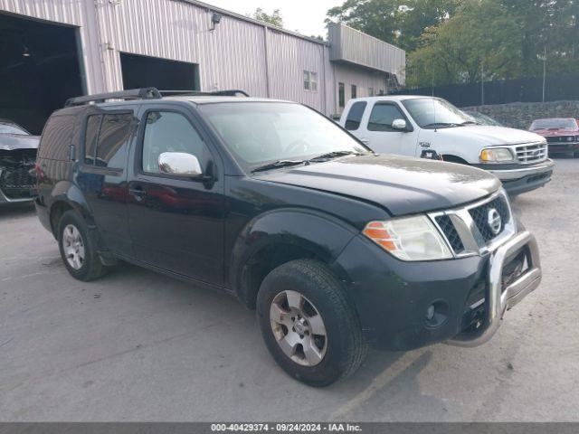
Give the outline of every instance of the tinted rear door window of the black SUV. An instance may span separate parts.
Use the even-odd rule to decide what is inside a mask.
[[[125,168],[132,113],[104,115],[100,123],[95,165]]]

